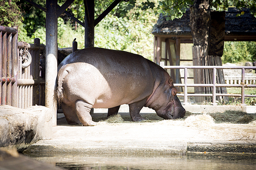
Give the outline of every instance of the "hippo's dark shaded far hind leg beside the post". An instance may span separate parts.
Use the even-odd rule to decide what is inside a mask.
[[[70,125],[81,124],[80,120],[76,115],[76,109],[74,106],[68,106],[64,103],[61,103],[61,108],[63,110],[63,113],[65,115],[65,118],[68,124]]]

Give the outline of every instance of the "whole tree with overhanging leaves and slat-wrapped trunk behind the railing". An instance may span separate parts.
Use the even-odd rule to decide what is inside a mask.
[[[168,19],[179,18],[187,8],[190,10],[190,30],[193,38],[193,63],[194,65],[222,65],[219,56],[209,56],[208,36],[211,11],[226,11],[228,7],[234,6],[238,9],[250,8],[250,12],[256,15],[256,2],[254,0],[168,0],[160,1],[158,11],[164,15],[170,15]],[[242,15],[243,12],[240,14]],[[224,40],[224,39],[223,39]],[[224,43],[223,43],[224,44]],[[212,80],[208,75],[213,75],[212,70],[199,70],[195,74],[194,83],[209,83]],[[217,72],[217,82],[225,83],[222,70]],[[211,93],[207,87],[195,87],[196,93]],[[225,88],[221,88],[218,93],[226,93]],[[227,100],[227,98],[224,98]],[[204,98],[196,98],[197,102],[203,102]],[[206,98],[208,101],[209,99]],[[213,99],[215,100],[215,99]]]

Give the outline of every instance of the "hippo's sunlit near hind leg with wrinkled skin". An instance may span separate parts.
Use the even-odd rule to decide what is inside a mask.
[[[76,114],[83,126],[97,125],[95,122],[93,122],[92,116],[90,115],[90,110],[92,107],[92,105],[82,100],[76,101]]]

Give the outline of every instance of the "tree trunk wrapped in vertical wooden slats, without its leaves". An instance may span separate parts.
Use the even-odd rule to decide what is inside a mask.
[[[206,65],[208,35],[209,35],[210,8],[209,0],[195,0],[190,7],[190,29],[194,46],[193,65]],[[194,69],[194,83],[202,84],[205,81],[205,70]],[[205,87],[195,87],[195,93],[206,93]],[[196,102],[203,102],[205,97],[196,97]]]

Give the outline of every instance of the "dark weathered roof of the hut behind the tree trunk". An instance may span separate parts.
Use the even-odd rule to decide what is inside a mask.
[[[244,37],[246,40],[256,41],[256,18],[250,14],[249,9],[243,11],[245,13],[241,16],[236,16],[242,12],[236,8],[228,8],[228,11],[226,11],[225,40],[228,37]],[[160,15],[152,34],[156,36],[191,36],[189,14],[190,11],[187,10],[180,19],[168,21],[166,21],[166,16]]]

